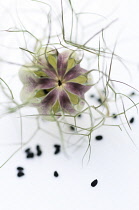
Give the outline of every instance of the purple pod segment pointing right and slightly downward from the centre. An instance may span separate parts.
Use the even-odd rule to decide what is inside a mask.
[[[80,97],[83,97],[85,92],[87,92],[92,86],[85,86],[74,82],[67,82],[65,84],[65,89],[67,89],[69,92],[78,95]]]

